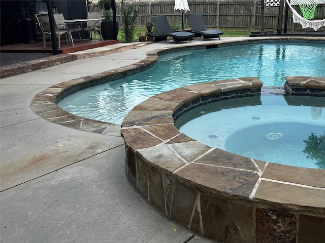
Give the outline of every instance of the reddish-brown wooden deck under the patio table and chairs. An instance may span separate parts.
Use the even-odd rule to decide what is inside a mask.
[[[83,40],[79,42],[78,40],[74,40],[75,46],[72,47],[65,40],[61,40],[61,48],[58,49],[59,54],[66,54],[71,52],[78,52],[87,49],[92,49],[96,47],[104,47],[108,45],[113,45],[119,43],[118,40],[107,39],[101,41],[97,39],[96,42],[93,40]],[[10,52],[10,53],[52,53],[51,42],[46,42],[46,49],[44,49],[43,42],[40,41],[38,43],[31,43],[31,44],[15,44],[15,45],[8,45],[8,46],[1,46],[0,52]]]

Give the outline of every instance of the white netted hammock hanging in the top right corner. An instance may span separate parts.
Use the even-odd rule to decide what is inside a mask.
[[[305,28],[313,28],[315,31],[319,29],[322,26],[325,26],[325,19],[322,20],[310,20],[314,18],[314,13],[317,5],[320,2],[323,2],[322,0],[296,0],[296,1],[290,1],[292,5],[298,3],[299,7],[301,8],[301,11],[303,13],[302,17],[289,3],[289,0],[286,0],[286,3],[290,7],[291,11],[293,11],[293,20],[294,23],[300,23],[301,26]],[[303,7],[302,7],[303,6]]]

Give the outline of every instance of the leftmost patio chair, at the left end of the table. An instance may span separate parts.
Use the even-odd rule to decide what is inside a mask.
[[[42,32],[42,38],[44,43],[44,48],[46,48],[46,36],[51,36],[51,27],[50,27],[50,20],[49,16],[47,14],[35,14],[37,24],[39,25],[41,32]],[[63,34],[66,34],[67,43],[69,44],[69,31],[68,30],[59,30],[58,26],[55,24],[55,34],[58,37],[58,48],[61,48],[61,42],[60,38]]]

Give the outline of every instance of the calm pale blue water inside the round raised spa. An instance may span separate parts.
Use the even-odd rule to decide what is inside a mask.
[[[325,98],[259,98],[201,106],[175,125],[211,147],[278,164],[325,169]]]

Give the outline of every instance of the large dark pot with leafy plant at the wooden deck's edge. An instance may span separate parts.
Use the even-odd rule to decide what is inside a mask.
[[[104,10],[105,20],[101,23],[101,31],[104,39],[117,39],[118,34],[118,22],[116,22],[116,34],[113,35],[113,20],[112,20],[112,8],[110,0],[100,0],[98,1],[98,7]]]

